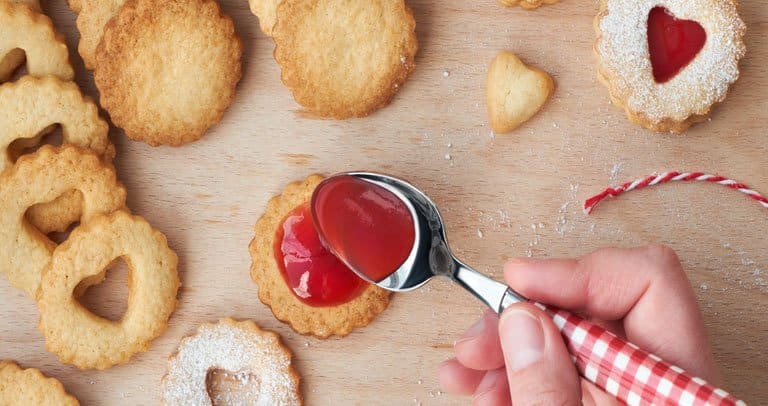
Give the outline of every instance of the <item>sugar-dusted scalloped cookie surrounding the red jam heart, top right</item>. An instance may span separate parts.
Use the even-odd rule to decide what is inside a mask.
[[[705,5],[715,10],[702,12]],[[696,21],[707,33],[696,57],[664,83],[653,78],[647,28],[628,30],[638,24],[647,27],[648,14],[658,6],[677,18]],[[598,78],[612,103],[623,108],[631,122],[656,132],[681,133],[705,120],[738,79],[739,60],[746,52],[746,26],[735,0],[601,0],[594,29]],[[616,43],[614,35],[631,43]]]

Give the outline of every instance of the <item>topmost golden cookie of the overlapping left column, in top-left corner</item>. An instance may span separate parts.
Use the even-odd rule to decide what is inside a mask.
[[[28,4],[0,1],[0,82],[10,79],[24,60],[19,49],[26,55],[30,75],[74,78],[67,45],[51,19]]]

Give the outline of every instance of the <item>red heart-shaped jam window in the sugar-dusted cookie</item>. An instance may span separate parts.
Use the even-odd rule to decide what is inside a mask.
[[[653,78],[664,83],[678,74],[704,47],[707,33],[696,21],[680,20],[664,7],[648,13],[648,51]]]

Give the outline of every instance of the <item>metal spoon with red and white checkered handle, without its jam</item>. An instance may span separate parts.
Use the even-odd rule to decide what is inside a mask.
[[[413,290],[435,276],[445,276],[497,313],[511,304],[528,301],[512,288],[470,268],[451,253],[440,212],[421,190],[403,180],[371,172],[347,172],[335,176],[345,175],[370,182],[400,198],[408,207],[415,228],[413,249],[391,275],[373,281],[349,266],[358,276],[392,291]],[[321,187],[322,184],[318,190]],[[318,232],[322,237],[322,230],[318,228]],[[340,256],[340,250],[332,246],[329,249],[350,265]],[[744,405],[724,390],[687,374],[600,326],[560,309],[539,303],[536,306],[552,317],[581,376],[622,402],[630,405]]]

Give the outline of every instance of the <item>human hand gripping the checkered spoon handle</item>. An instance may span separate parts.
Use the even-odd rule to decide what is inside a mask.
[[[531,300],[591,322],[712,384],[720,377],[696,297],[674,251],[661,246],[603,249],[578,260],[519,259],[505,266],[509,286]],[[613,405],[580,380],[550,317],[521,303],[501,320],[487,312],[440,366],[448,392],[475,405]]]

